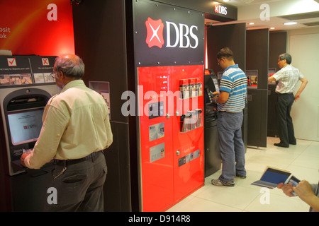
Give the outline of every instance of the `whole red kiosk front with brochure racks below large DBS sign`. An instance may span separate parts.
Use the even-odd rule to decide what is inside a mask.
[[[142,210],[203,186],[203,65],[138,68]]]

